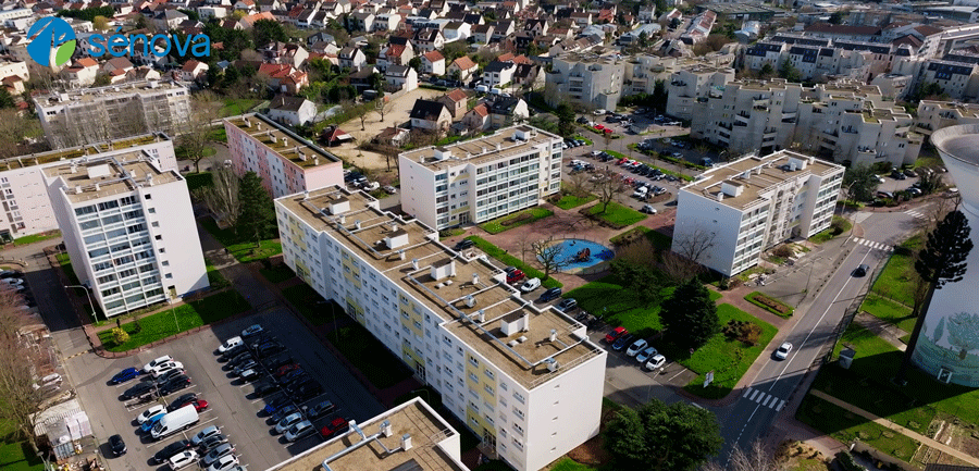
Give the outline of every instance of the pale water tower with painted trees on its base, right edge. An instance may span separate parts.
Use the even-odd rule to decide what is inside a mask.
[[[958,283],[934,292],[912,361],[942,382],[979,387],[979,124],[931,135],[958,191],[976,248]]]

